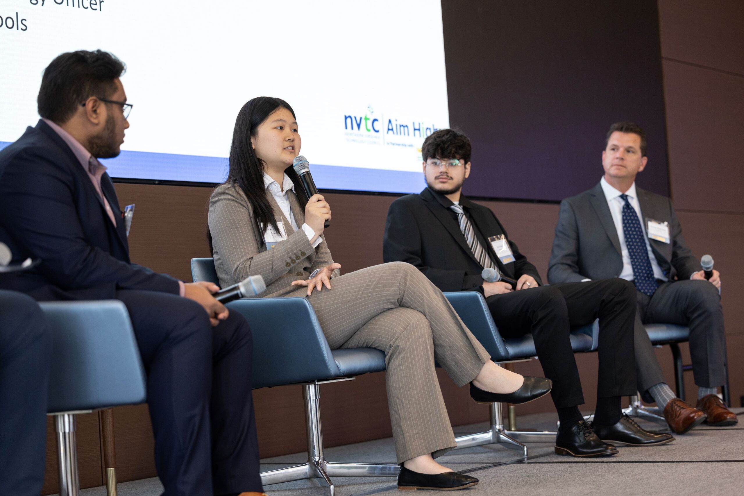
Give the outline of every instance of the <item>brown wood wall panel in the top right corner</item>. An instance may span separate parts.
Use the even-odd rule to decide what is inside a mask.
[[[661,55],[744,74],[744,1],[658,0]]]

